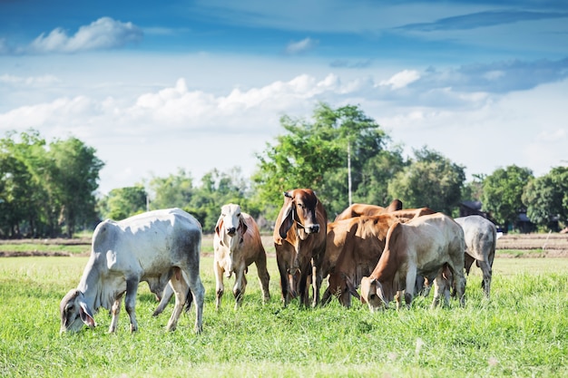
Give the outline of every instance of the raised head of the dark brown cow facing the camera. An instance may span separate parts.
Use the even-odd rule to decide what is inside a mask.
[[[279,225],[279,235],[286,237],[289,229],[296,223],[298,236],[305,240],[309,234],[319,232],[316,208],[318,197],[312,189],[294,189],[284,192],[284,216]]]

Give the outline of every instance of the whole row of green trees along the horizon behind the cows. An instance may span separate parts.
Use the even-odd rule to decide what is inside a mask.
[[[72,237],[92,230],[103,218],[120,220],[147,209],[178,207],[212,232],[220,207],[239,203],[270,228],[282,192],[311,188],[328,217],[350,202],[386,206],[401,199],[405,208],[433,208],[456,217],[465,200],[505,228],[520,213],[541,230],[568,222],[568,168],[555,167],[535,178],[515,165],[466,182],[465,167],[426,146],[405,158],[402,147],[358,106],[332,108],[320,102],[309,118],[280,118],[283,132],[257,154],[257,170],[243,178],[240,168],[211,170],[196,182],[179,169],[132,187],[96,197],[104,163],[96,150],[76,138],[44,141],[30,130],[0,140],[0,237]]]

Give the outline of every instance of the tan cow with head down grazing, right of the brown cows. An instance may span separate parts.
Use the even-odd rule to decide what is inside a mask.
[[[443,270],[449,268],[455,280],[460,305],[465,304],[464,231],[454,219],[442,213],[415,218],[407,223],[396,223],[388,229],[387,244],[377,267],[370,276],[361,279],[361,300],[371,312],[384,308],[397,293],[405,290],[406,306],[414,296],[416,275],[436,277],[436,293],[432,306],[444,295],[449,305],[450,284]]]

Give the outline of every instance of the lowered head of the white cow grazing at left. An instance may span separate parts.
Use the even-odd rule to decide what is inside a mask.
[[[78,332],[84,325],[94,327],[93,311],[84,301],[84,296],[78,289],[72,289],[61,300],[61,328],[59,333]]]

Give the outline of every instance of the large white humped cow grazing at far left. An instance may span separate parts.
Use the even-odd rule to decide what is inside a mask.
[[[201,225],[180,208],[150,211],[115,222],[101,222],[93,233],[91,257],[77,288],[61,301],[61,332],[95,326],[100,307],[111,310],[109,332],[116,331],[122,296],[131,332],[138,330],[134,311],[138,285],[146,281],[162,295],[169,284],[175,307],[167,329],[176,328],[186,296],[195,299],[195,331],[201,332],[204,288],[200,277]]]

